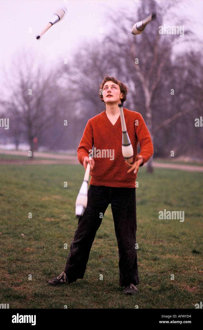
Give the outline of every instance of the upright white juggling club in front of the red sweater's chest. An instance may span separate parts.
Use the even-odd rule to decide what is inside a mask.
[[[125,118],[124,118],[124,114],[123,114],[123,104],[120,103],[119,105],[119,109],[120,109],[120,115],[121,115],[121,126],[122,126],[122,154],[124,156],[124,159],[126,161],[128,161],[130,164],[132,164],[133,161],[133,149],[132,149],[132,145],[127,133],[127,129],[126,129],[126,122],[125,122]]]

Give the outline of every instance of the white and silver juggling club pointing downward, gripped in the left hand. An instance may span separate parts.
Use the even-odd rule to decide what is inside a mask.
[[[91,157],[89,157],[91,159]],[[85,209],[87,207],[87,187],[90,175],[90,164],[87,164],[85,170],[84,180],[82,182],[79,194],[77,195],[77,199],[75,202],[75,216],[80,217],[83,216]]]

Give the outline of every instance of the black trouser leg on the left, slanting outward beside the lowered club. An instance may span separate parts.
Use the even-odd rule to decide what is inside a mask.
[[[64,272],[68,281],[83,279],[92,243],[109,204],[110,187],[90,185],[87,208],[78,220]],[[101,216],[102,213],[102,216]]]

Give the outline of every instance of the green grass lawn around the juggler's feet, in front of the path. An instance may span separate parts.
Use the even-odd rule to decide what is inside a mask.
[[[110,205],[96,234],[84,279],[70,286],[47,284],[64,270],[77,228],[75,200],[84,176],[81,165],[1,165],[0,173],[0,303],[9,303],[10,309],[64,305],[194,309],[202,301],[201,173],[155,169],[150,175],[139,169],[136,236],[140,284],[136,296],[125,296],[119,286]],[[184,211],[185,221],[159,220],[159,211],[164,209]],[[32,218],[28,218],[29,212]],[[65,243],[68,249],[64,249]],[[29,274],[32,280],[28,280]]]

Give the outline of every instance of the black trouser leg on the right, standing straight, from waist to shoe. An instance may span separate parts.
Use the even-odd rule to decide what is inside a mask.
[[[119,251],[119,283],[139,284],[136,243],[135,188],[111,188],[111,210]]]

